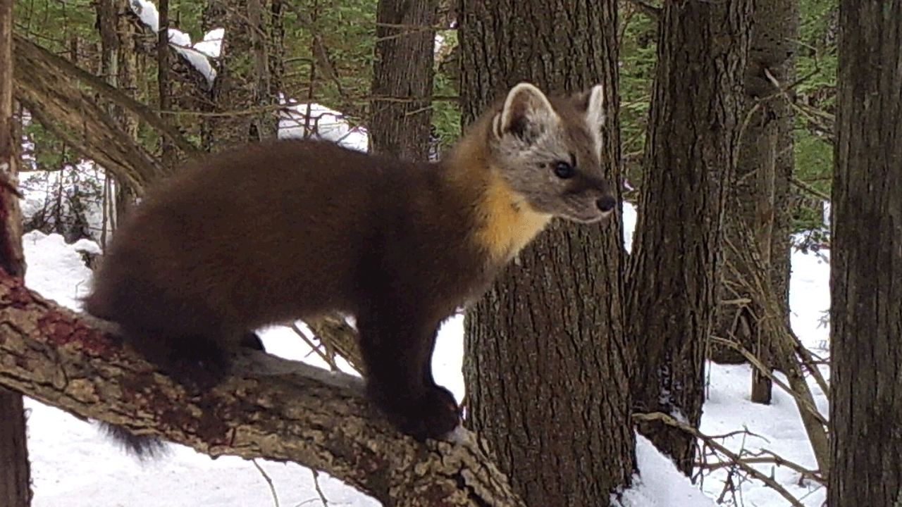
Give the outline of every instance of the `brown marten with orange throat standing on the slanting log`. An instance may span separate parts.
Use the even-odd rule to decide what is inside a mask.
[[[437,163],[302,140],[198,161],[126,217],[85,308],[194,389],[223,380],[253,329],[345,312],[371,399],[403,432],[441,438],[459,410],[432,376],[438,326],[552,217],[618,205],[603,123],[601,86],[546,97],[521,83]]]

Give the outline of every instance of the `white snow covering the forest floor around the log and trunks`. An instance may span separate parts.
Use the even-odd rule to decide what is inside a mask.
[[[629,218],[627,230],[630,231],[634,210],[624,209],[624,217]],[[78,297],[87,292],[90,271],[77,250],[96,250],[97,246],[90,242],[67,245],[60,235],[39,232],[24,235],[23,244],[28,261],[25,281],[29,287],[63,305],[78,308]],[[827,329],[820,325],[820,319],[829,304],[829,268],[824,259],[814,253],[795,253],[793,266],[793,325],[805,345],[817,352],[827,338]],[[464,393],[461,374],[463,330],[463,318],[450,319],[439,333],[433,357],[439,383],[444,383],[458,399]],[[262,338],[274,354],[316,364],[315,355],[309,355],[298,336],[284,327],[267,329]],[[756,436],[727,438],[725,445],[735,451],[743,447],[749,450],[764,447],[800,465],[815,466],[791,397],[775,388],[771,405],[751,403],[750,369],[745,365],[713,365],[710,378],[709,400],[704,405],[702,420],[704,433],[724,434],[749,429]],[[818,407],[825,410],[824,395],[817,394]],[[28,400],[26,405],[35,507],[275,504],[264,477],[251,462],[229,456],[214,460],[188,447],[172,446],[170,456],[152,463],[139,463],[125,456],[92,424],[37,401]],[[623,494],[622,507],[713,506],[710,498],[721,494],[726,470],[707,475],[700,492],[698,485],[690,484],[679,475],[672,462],[660,455],[645,438],[638,439],[637,456],[640,477]],[[272,478],[279,504],[323,505],[309,469],[264,460],[258,460],[258,464]],[[798,475],[785,467],[759,466],[759,469],[766,475],[773,475],[796,496],[805,496],[806,507],[819,507],[824,501],[823,488],[816,484],[800,485]],[[734,477],[733,480],[737,479]],[[329,505],[378,505],[325,474],[319,475],[319,483]],[[787,505],[777,493],[752,481],[739,485],[736,500],[737,504],[746,506]]]

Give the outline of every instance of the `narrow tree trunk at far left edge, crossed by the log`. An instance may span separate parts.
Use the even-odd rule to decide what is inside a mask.
[[[13,0],[0,0],[0,268],[22,277],[22,216],[13,193],[18,165],[13,83]],[[30,474],[23,396],[0,387],[0,505],[31,504]]]

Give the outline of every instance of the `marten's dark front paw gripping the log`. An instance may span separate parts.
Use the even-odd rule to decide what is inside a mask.
[[[460,424],[460,408],[454,395],[437,385],[419,400],[376,399],[376,403],[398,429],[421,442],[427,438],[444,438]]]

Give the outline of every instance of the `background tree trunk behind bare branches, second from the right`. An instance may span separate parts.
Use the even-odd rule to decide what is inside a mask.
[[[780,93],[795,77],[795,41],[798,38],[797,0],[759,0],[755,4],[749,61],[745,73],[745,93],[749,98],[743,112],[740,158],[736,166],[736,185],[726,210],[724,250],[726,266],[714,334],[732,339],[752,351],[765,364],[773,364],[770,343],[764,336],[762,318],[789,318],[787,269],[789,262],[790,214],[787,206],[789,178],[792,176],[793,122],[788,93]],[[751,232],[752,237],[738,236]],[[752,287],[741,277],[749,266],[739,266],[741,244],[757,251],[760,265],[768,271],[767,288]],[[771,290],[767,297],[779,301],[781,315],[767,315],[768,305],[761,300],[760,289]],[[746,302],[748,300],[748,302]],[[713,345],[711,356],[718,363],[742,363],[734,348]],[[768,403],[769,378],[754,370],[752,401]]]

